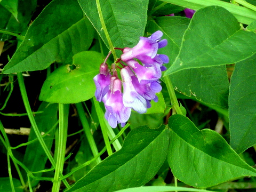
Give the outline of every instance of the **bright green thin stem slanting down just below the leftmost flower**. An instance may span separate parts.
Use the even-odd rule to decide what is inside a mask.
[[[99,122],[100,122],[100,127],[101,127],[101,131],[102,131],[102,134],[103,134],[103,139],[105,141],[105,145],[106,145],[106,148],[107,148],[107,151],[108,151],[108,155],[112,155],[113,154],[113,151],[111,149],[111,146],[110,146],[110,143],[109,143],[109,139],[108,139],[108,128],[107,128],[107,124],[105,122],[105,117],[103,115],[103,111],[102,109],[100,108],[100,103],[99,101],[96,100],[95,97],[92,98],[93,102],[94,102],[94,106],[95,106],[95,109],[96,109],[96,113],[98,115],[98,118],[99,118]]]

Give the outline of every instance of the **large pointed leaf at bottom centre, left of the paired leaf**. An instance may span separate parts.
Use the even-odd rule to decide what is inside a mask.
[[[145,185],[166,159],[169,131],[165,126],[133,129],[121,150],[77,181],[71,191],[115,191]]]

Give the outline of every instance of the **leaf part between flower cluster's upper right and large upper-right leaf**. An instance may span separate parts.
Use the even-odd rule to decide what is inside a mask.
[[[163,38],[167,39],[168,44],[166,47],[159,49],[158,54],[166,54],[169,57],[169,63],[165,64],[167,68],[171,66],[175,58],[179,54],[183,34],[188,28],[190,19],[185,17],[157,17],[151,19],[147,32],[152,34],[157,30],[163,32]]]

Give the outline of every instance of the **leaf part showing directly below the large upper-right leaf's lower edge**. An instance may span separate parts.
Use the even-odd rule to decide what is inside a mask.
[[[185,69],[170,75],[175,90],[197,100],[228,108],[226,66]]]

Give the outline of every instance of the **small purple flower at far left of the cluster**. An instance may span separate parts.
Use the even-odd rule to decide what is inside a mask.
[[[100,65],[100,73],[93,78],[96,85],[95,98],[99,102],[101,102],[104,95],[109,91],[110,77],[111,74],[109,73],[108,65],[102,63]]]

